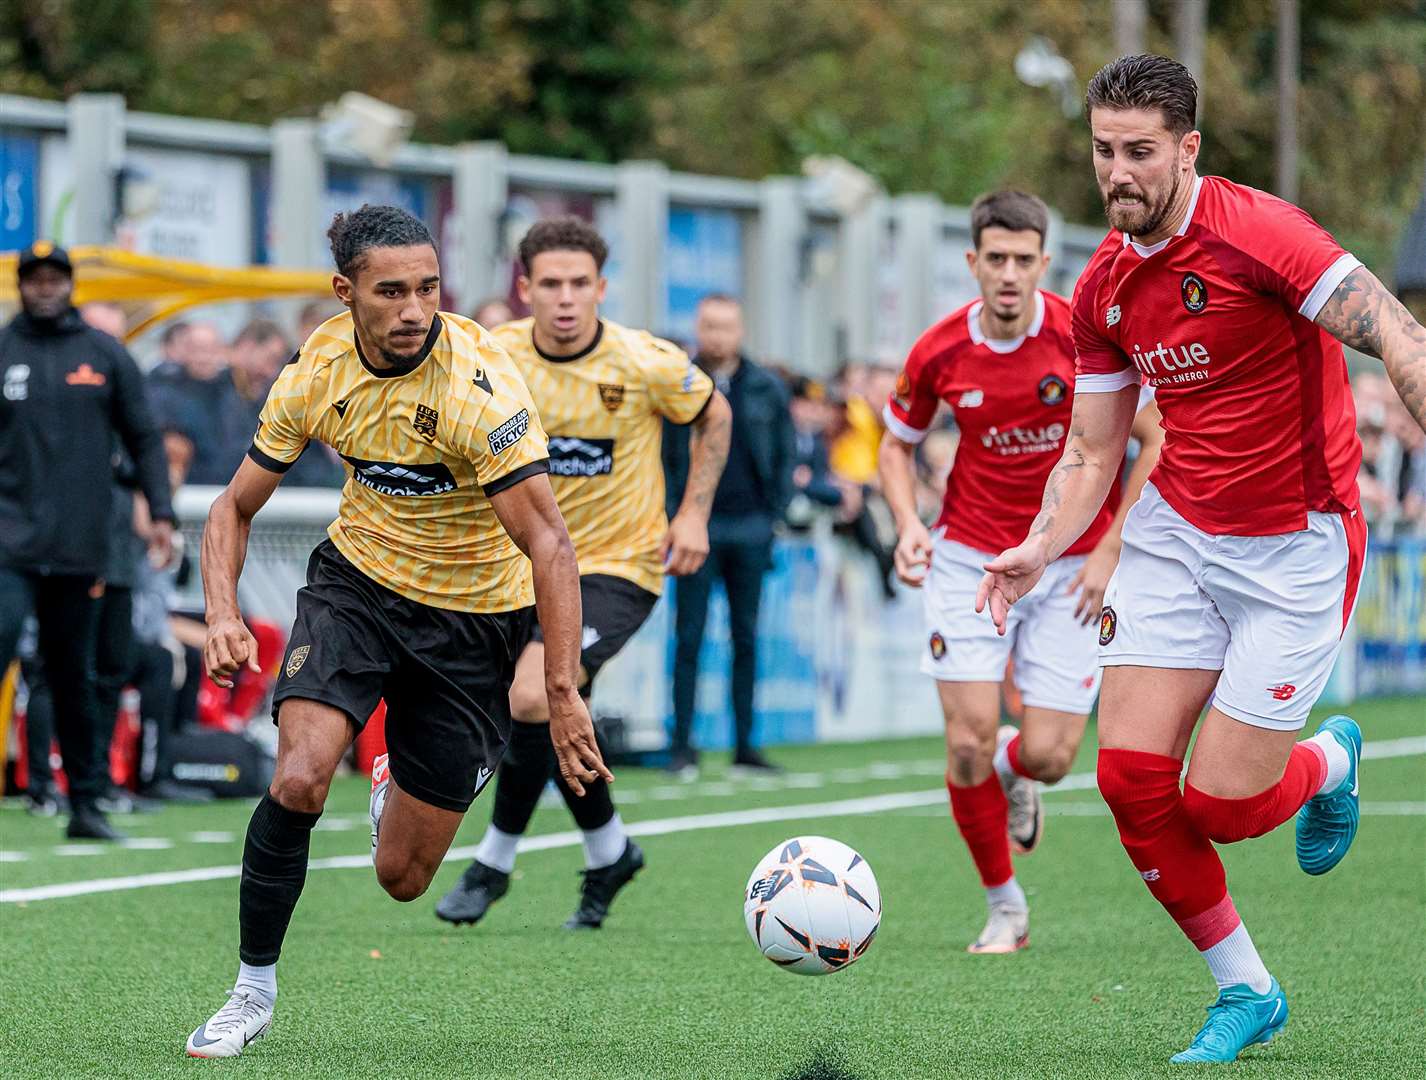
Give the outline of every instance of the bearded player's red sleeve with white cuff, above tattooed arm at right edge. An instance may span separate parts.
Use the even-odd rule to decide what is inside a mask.
[[[1309,320],[1362,265],[1305,210],[1251,187],[1228,187],[1208,228],[1222,245],[1214,254],[1226,270]]]

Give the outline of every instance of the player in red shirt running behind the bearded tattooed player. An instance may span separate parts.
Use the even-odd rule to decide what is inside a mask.
[[[974,611],[981,568],[1025,534],[1064,449],[1075,388],[1070,304],[1037,288],[1050,214],[1020,191],[971,208],[967,254],[981,300],[917,341],[886,407],[881,481],[900,534],[897,574],[924,584],[925,652],[945,715],[951,815],[970,849],[990,913],[973,953],[1011,953],[1030,936],[1025,893],[1011,869],[1040,840],[1037,780],[1070,769],[1099,688],[1099,601],[1119,555],[1119,526],[1148,477],[1162,429],[1145,395],[1135,419],[1141,454],[1122,501],[1118,485],[1082,535],[1048,569],[1001,636]],[[915,444],[945,402],[961,442],[933,534],[915,512]],[[1000,723],[1001,682],[1014,658],[1021,730]],[[1007,836],[1008,833],[1008,836]]]

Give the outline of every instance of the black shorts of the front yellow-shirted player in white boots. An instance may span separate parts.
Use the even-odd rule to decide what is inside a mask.
[[[511,681],[535,609],[432,608],[376,584],[327,539],[307,564],[272,695],[331,705],[358,730],[386,699],[391,776],[408,795],[463,813],[511,738]]]

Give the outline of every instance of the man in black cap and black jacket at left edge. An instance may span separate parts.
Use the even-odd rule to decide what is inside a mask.
[[[71,304],[68,255],[37,241],[20,253],[19,278],[21,311],[0,330],[0,662],[36,615],[70,780],[68,836],[114,839],[97,806],[94,638],[116,438],[134,461],[164,561],[174,521],[167,465],[133,357]]]

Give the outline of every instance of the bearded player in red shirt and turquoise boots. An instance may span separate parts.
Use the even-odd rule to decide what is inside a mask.
[[[1089,81],[1114,231],[1075,288],[1064,455],[1024,541],[987,564],[977,606],[1005,625],[1094,519],[1147,379],[1166,437],[1105,594],[1099,790],[1129,860],[1219,986],[1174,1060],[1229,1061],[1272,1039],[1288,1003],[1214,845],[1296,815],[1298,862],[1319,875],[1356,833],[1356,723],[1333,716],[1298,740],[1366,546],[1339,341],[1380,357],[1426,428],[1426,331],[1303,211],[1196,174],[1196,94],[1188,70],[1158,56]]]

